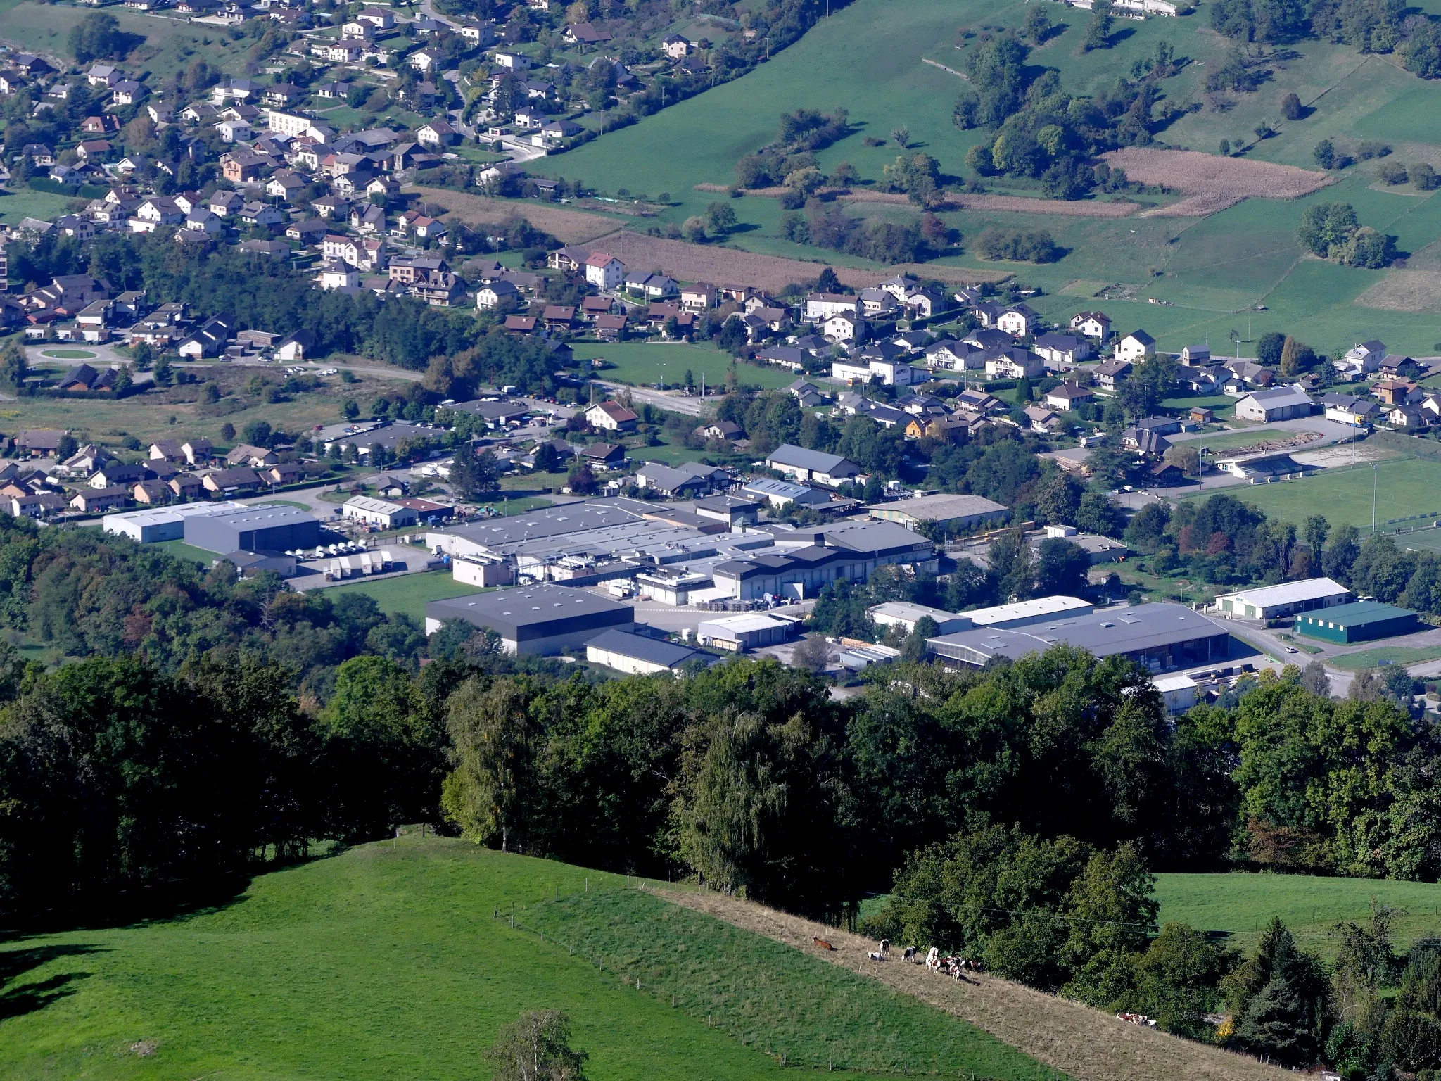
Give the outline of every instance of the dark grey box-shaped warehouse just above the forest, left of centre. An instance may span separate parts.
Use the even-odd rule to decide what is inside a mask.
[[[465,620],[500,636],[506,653],[559,653],[584,646],[604,630],[628,631],[635,610],[565,585],[523,585],[425,605],[425,633],[445,620]]]

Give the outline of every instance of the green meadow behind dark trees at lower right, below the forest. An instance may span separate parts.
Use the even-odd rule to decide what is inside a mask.
[[[1236,946],[1249,947],[1278,915],[1303,946],[1326,956],[1336,951],[1331,927],[1340,920],[1365,920],[1373,897],[1406,911],[1395,931],[1402,947],[1441,934],[1441,885],[1428,882],[1241,872],[1156,876],[1161,922],[1179,920],[1206,931],[1231,931]]]

